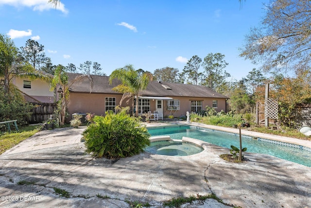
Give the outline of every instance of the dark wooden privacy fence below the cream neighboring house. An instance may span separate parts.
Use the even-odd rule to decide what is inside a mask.
[[[26,119],[29,124],[42,123],[51,118],[54,110],[57,108],[56,103],[32,103],[34,105],[33,114]]]

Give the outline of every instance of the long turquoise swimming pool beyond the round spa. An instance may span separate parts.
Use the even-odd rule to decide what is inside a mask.
[[[152,136],[169,135],[171,139],[182,139],[183,136],[187,136],[229,149],[231,145],[240,146],[239,134],[236,133],[184,125],[152,127],[147,129]],[[246,147],[248,152],[269,154],[311,167],[311,151],[303,150],[302,146],[294,148],[285,146],[285,143],[282,142],[261,138],[255,140],[251,136],[242,135],[242,147]]]

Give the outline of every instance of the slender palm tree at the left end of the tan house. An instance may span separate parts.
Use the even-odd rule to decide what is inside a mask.
[[[53,90],[55,87],[59,86],[60,94],[61,94],[61,107],[60,107],[60,113],[59,113],[59,120],[60,125],[65,124],[65,118],[66,118],[66,109],[69,105],[69,89],[70,87],[79,81],[83,81],[85,79],[88,79],[90,81],[90,93],[92,92],[93,88],[93,79],[90,75],[79,75],[76,76],[74,79],[69,80],[69,76],[66,74],[64,70],[64,66],[58,65],[55,69],[54,78],[52,79],[51,84],[51,90]]]

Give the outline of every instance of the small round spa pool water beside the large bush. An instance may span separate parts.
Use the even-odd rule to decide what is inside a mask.
[[[188,156],[197,154],[203,150],[202,147],[195,144],[176,141],[151,142],[151,145],[145,148],[147,152],[169,156]]]

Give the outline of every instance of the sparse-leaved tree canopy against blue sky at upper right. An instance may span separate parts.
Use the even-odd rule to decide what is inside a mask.
[[[296,71],[311,61],[311,1],[274,0],[259,27],[251,28],[240,56],[268,71]]]

